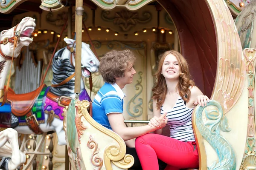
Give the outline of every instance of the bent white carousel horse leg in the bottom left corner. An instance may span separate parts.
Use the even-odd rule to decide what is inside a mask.
[[[0,132],[0,155],[11,158],[8,162],[9,170],[16,169],[26,161],[26,155],[20,152],[19,149],[18,133],[16,130],[8,128]]]

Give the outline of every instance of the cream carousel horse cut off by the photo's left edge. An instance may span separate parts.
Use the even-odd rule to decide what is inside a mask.
[[[31,35],[34,29],[35,19],[26,17],[15,27],[3,30],[0,33],[0,102],[1,99],[3,100],[3,87],[12,55],[17,58],[20,54],[20,49],[32,43]],[[13,51],[15,36],[18,41],[15,51]],[[0,162],[0,168],[9,170],[16,169],[26,161],[25,154],[19,150],[17,132],[13,129],[9,128],[0,132],[0,158],[3,158]]]

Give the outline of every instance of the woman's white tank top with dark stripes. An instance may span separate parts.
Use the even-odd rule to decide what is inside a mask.
[[[163,106],[160,107],[163,114]],[[192,112],[194,108],[187,108],[179,96],[176,104],[167,112],[167,124],[170,127],[170,137],[179,141],[195,141],[192,129]]]

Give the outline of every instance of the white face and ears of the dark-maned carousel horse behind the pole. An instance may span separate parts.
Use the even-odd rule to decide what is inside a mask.
[[[69,60],[72,66],[76,65],[76,41],[64,38],[64,41],[67,43],[67,49],[71,52],[69,55]],[[63,55],[66,56],[66,55]],[[89,77],[90,72],[97,72],[99,68],[99,60],[93,54],[90,46],[86,43],[82,42],[82,49],[81,49],[81,71],[84,77]]]

